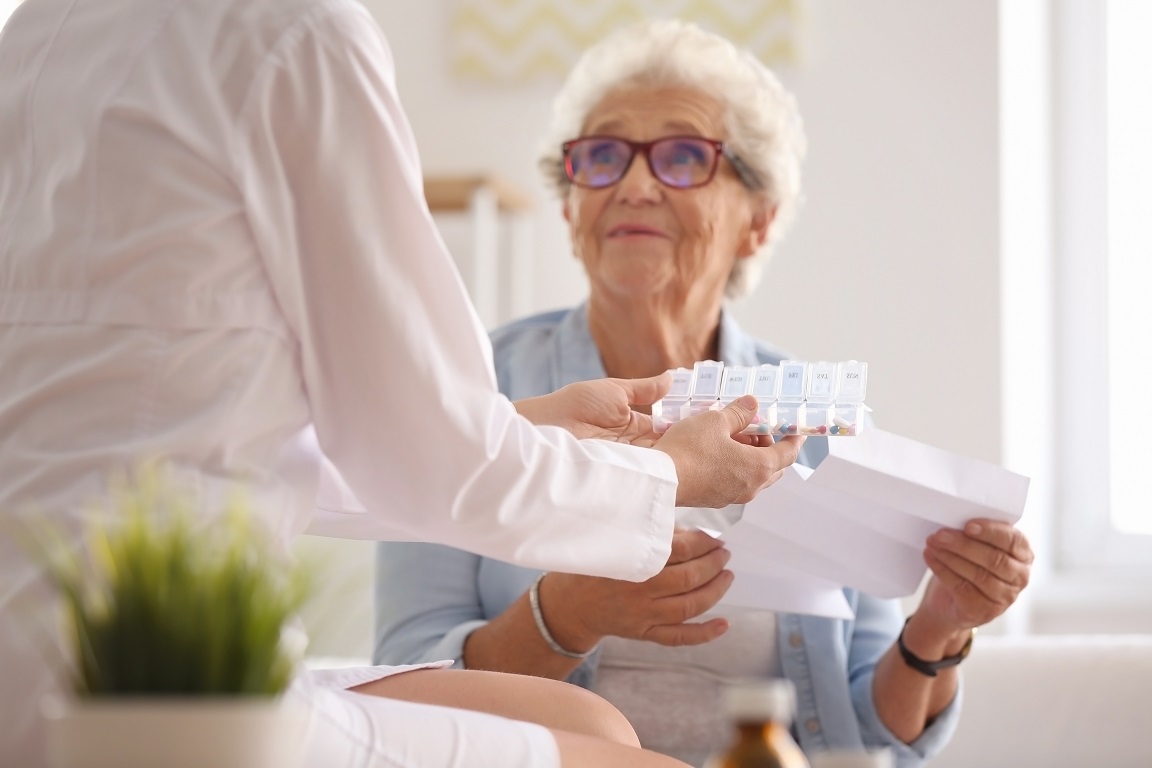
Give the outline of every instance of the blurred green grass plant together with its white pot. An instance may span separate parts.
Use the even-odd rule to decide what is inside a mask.
[[[309,592],[240,496],[194,515],[156,467],[119,484],[77,550],[40,532],[71,695],[43,702],[55,768],[286,768],[303,713],[281,694]],[[300,636],[302,640],[302,634]]]

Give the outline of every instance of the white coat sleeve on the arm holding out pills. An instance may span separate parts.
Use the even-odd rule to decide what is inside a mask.
[[[535,427],[499,394],[371,16],[317,6],[280,40],[238,126],[244,204],[319,443],[365,509],[334,533],[401,531],[612,578],[658,572],[670,459]]]

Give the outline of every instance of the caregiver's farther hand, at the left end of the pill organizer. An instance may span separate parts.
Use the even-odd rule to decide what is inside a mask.
[[[632,405],[651,405],[670,385],[667,373],[647,379],[594,379],[520,400],[515,405],[532,424],[563,427],[577,438],[651,447],[659,439],[652,431],[652,417],[634,411]]]

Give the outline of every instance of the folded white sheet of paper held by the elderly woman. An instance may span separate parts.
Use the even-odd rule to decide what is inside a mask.
[[[740,538],[760,560],[902,598],[924,577],[932,532],[1023,512],[1028,478],[994,464],[880,429],[828,443],[818,469],[789,467],[744,507]]]

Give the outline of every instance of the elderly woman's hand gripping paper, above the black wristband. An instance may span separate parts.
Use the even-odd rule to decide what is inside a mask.
[[[941,529],[924,549],[933,578],[916,613],[941,629],[987,624],[1028,586],[1033,560],[1028,539],[1007,523],[975,519],[962,531]]]

